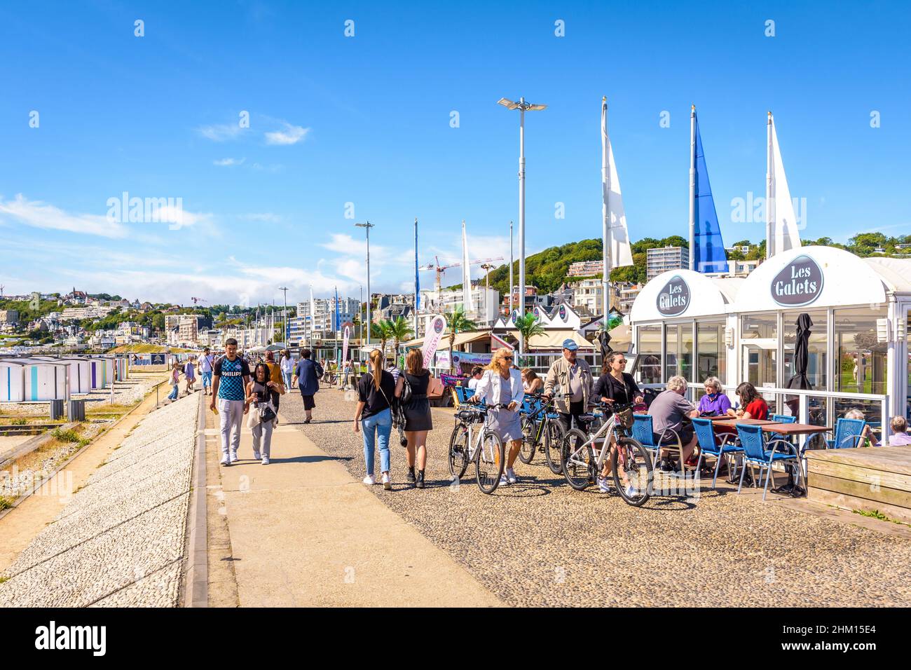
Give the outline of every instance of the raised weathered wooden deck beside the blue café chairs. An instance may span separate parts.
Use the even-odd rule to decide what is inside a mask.
[[[809,500],[911,523],[911,447],[806,452]]]

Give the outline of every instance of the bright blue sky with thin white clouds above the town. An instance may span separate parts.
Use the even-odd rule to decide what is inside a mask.
[[[409,290],[415,217],[421,263],[460,255],[462,219],[473,257],[507,257],[518,115],[501,97],[548,104],[526,122],[528,253],[600,234],[602,95],[633,240],[687,234],[691,103],[725,242],[764,233],[731,203],[764,194],[767,109],[804,237],[911,232],[911,9],[695,6],[0,5],[0,283],[181,304],[279,302],[279,285],[289,302],[310,284],[356,296],[366,219],[374,290]],[[180,198],[182,225],[109,222],[124,191]]]

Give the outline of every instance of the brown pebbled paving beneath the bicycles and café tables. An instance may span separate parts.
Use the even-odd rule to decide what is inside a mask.
[[[304,426],[301,397],[282,397],[281,420],[362,479],[354,403],[332,389],[316,402],[314,423]],[[738,496],[721,482],[718,490],[660,495],[633,508],[615,492],[570,489],[540,457],[531,465],[517,461],[519,482],[487,496],[473,467],[461,482],[450,481],[453,425],[451,409],[434,410],[425,490],[405,483],[405,452],[394,431],[394,488],[373,491],[507,604],[911,604],[905,538]]]

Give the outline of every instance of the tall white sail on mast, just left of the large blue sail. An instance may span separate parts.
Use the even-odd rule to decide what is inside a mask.
[[[620,194],[620,180],[614,149],[608,135],[608,98],[601,98],[601,236],[604,276],[604,329],[607,330],[610,313],[610,270],[615,267],[632,265],[630,232],[626,226],[626,212],[623,210],[623,196]]]

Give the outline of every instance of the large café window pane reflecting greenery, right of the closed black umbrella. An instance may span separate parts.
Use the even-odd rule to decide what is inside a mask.
[[[835,390],[885,394],[887,346],[876,336],[876,319],[885,314],[885,305],[835,310]]]

